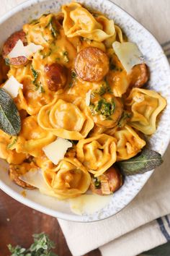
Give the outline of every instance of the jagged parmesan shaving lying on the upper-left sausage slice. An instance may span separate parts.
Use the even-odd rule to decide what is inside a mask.
[[[12,51],[8,54],[9,59],[24,56],[27,59],[30,58],[37,51],[42,50],[43,46],[36,45],[35,43],[29,43],[24,46],[22,40],[18,40]]]

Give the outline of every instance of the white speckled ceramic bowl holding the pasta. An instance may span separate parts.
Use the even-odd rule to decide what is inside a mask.
[[[156,133],[148,140],[149,147],[163,155],[170,138],[170,70],[164,51],[146,28],[111,1],[81,0],[80,2],[84,3],[87,7],[107,14],[109,18],[115,20],[117,25],[120,25],[125,34],[128,35],[129,40],[138,44],[145,56],[146,63],[151,70],[149,88],[161,93],[168,102],[168,106],[158,122]],[[24,23],[39,17],[43,13],[58,12],[61,5],[66,3],[68,3],[67,0],[29,0],[12,9],[0,19],[0,35],[3,35],[0,38],[0,46],[2,46],[9,35],[21,29]],[[125,205],[128,205],[133,200],[153,173],[153,171],[149,171],[146,174],[127,176],[125,184],[112,195],[112,200],[110,200],[106,207],[91,215],[77,216],[71,212],[68,202],[58,201],[53,197],[42,195],[37,190],[27,191],[27,196],[23,197],[21,194],[23,189],[17,187],[9,179],[8,166],[5,161],[0,160],[0,164],[0,187],[6,194],[22,202],[24,205],[50,216],[63,218],[68,221],[82,222],[99,221],[122,210]]]

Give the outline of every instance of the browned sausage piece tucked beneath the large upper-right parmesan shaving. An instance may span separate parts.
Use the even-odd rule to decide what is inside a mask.
[[[141,88],[148,82],[149,70],[146,64],[138,64],[130,73],[130,87]]]

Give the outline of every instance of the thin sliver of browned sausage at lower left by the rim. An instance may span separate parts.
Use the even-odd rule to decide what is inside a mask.
[[[35,187],[33,187],[33,186],[27,184],[26,182],[23,182],[21,179],[19,179],[19,173],[17,172],[15,166],[12,164],[9,165],[9,177],[19,187],[23,187],[24,189],[35,189]]]

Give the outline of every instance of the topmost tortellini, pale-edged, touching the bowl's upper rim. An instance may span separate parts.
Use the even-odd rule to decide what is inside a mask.
[[[102,42],[116,34],[113,20],[108,20],[100,14],[94,17],[79,3],[63,5],[62,11],[64,14],[63,29],[68,38],[79,35]]]

